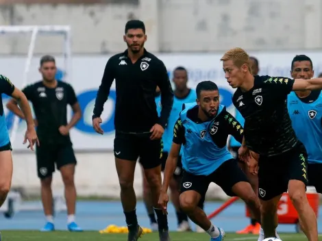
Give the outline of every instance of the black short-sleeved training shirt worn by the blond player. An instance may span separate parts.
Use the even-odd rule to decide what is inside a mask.
[[[297,144],[286,103],[293,84],[285,77],[255,76],[251,90],[237,88],[232,101],[245,118],[245,141],[252,151],[280,155]]]

